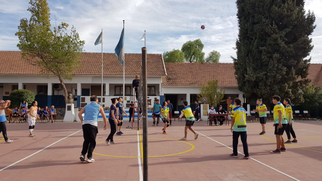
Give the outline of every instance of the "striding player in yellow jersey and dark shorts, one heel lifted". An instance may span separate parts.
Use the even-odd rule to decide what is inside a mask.
[[[185,106],[185,108],[182,110],[182,113],[179,116],[178,120],[180,121],[180,119],[184,115],[185,115],[185,118],[187,120],[185,121],[185,137],[183,137],[181,139],[182,140],[187,140],[188,129],[190,129],[190,131],[192,131],[194,133],[194,139],[197,139],[199,134],[196,133],[194,131],[194,129],[191,128],[194,125],[194,114],[192,113],[191,108],[188,106],[188,102],[187,101],[183,101],[183,105]]]

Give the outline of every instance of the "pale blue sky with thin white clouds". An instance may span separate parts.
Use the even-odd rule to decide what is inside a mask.
[[[94,45],[103,29],[103,52],[114,53],[125,20],[125,53],[141,53],[146,30],[147,53],[181,49],[182,44],[200,39],[205,56],[216,50],[219,62],[232,62],[236,57],[238,36],[235,0],[47,0],[51,24],[73,25],[85,52],[101,52]],[[29,20],[29,0],[0,0],[0,51],[19,51],[18,30],[22,18]],[[306,0],[305,10],[316,15],[316,29],[310,36],[314,45],[311,63],[322,63],[322,0]],[[202,30],[201,25],[205,25]],[[70,32],[70,28],[67,30]]]

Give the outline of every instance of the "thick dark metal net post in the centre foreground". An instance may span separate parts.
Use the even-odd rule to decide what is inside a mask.
[[[147,47],[142,47],[143,181],[147,176]]]

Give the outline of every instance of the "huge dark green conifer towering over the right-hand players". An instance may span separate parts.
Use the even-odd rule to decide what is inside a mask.
[[[315,16],[303,0],[237,0],[239,34],[233,58],[238,88],[248,99],[273,95],[303,102]]]

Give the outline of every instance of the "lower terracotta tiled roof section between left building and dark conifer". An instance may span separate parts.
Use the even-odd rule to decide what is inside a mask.
[[[202,86],[217,80],[218,86],[237,87],[233,63],[165,63],[163,86]]]

